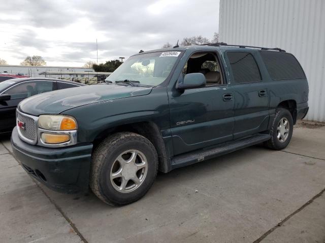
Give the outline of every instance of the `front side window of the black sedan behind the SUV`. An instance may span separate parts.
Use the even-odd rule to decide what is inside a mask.
[[[33,95],[49,92],[53,90],[53,82],[37,81],[25,82],[10,88],[5,94],[11,95],[12,99],[27,98]]]

